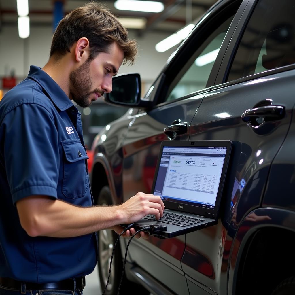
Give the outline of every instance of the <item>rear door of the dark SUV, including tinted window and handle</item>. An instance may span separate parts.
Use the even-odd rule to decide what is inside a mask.
[[[287,1],[249,1],[216,86],[204,96],[191,122],[190,140],[232,140],[233,150],[218,224],[186,235],[182,268],[190,294],[200,289],[246,294],[235,293],[233,273],[239,265],[232,241],[244,216],[261,205],[271,163],[291,122],[294,12]],[[255,278],[252,283],[255,286]],[[258,293],[251,288],[251,294]]]

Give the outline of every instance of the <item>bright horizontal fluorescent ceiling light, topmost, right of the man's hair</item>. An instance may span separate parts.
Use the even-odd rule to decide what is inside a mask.
[[[164,10],[164,4],[155,1],[117,0],[114,6],[120,10],[132,11],[162,12]]]

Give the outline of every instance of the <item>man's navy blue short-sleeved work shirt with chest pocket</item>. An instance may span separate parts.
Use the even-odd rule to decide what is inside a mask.
[[[81,113],[44,71],[0,101],[0,277],[46,283],[91,273],[96,235],[30,237],[15,203],[46,195],[78,206],[93,205]]]

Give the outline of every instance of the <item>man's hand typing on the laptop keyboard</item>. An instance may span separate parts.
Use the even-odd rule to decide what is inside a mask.
[[[124,216],[120,223],[125,224],[136,222],[148,214],[153,214],[156,219],[160,219],[165,209],[164,203],[159,196],[144,193],[137,193],[118,207],[122,212],[122,216]]]

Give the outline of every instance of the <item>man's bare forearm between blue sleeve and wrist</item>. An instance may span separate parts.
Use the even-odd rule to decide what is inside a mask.
[[[72,204],[32,196],[17,203],[22,227],[30,236],[75,237],[124,222],[120,206],[77,207]]]

